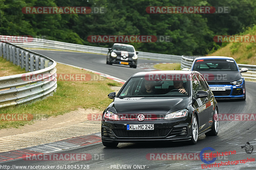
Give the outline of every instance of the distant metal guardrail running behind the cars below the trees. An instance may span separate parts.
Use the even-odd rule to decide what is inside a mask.
[[[108,53],[108,48],[104,48],[104,47],[84,46],[79,44],[65,43],[65,42],[53,41],[53,40],[47,40],[47,39],[28,38],[28,42],[15,42],[14,44],[17,44],[24,48],[72,50],[72,51],[100,53],[100,54]],[[145,59],[164,60],[166,62],[178,62],[178,63],[181,63],[181,68],[190,68],[193,63],[193,60],[199,56],[185,56],[185,55],[179,56],[179,55],[170,55],[170,54],[139,52],[138,57],[145,58]],[[239,68],[246,67],[250,71],[256,71],[256,65],[238,64],[238,66]],[[252,79],[252,78],[255,78],[253,77],[254,75],[256,75],[256,73],[251,73],[248,76],[251,77]]]

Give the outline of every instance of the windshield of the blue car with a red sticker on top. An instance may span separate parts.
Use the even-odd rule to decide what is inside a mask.
[[[194,71],[238,71],[234,60],[199,59],[196,60]]]

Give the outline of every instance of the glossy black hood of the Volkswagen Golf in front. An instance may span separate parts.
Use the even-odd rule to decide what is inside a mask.
[[[166,97],[132,97],[115,98],[109,105],[109,111],[117,114],[156,114],[163,115],[183,109],[190,102],[189,97],[166,98]]]

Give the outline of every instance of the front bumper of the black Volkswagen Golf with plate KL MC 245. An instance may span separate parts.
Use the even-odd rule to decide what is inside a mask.
[[[126,130],[127,124],[154,124],[154,130]],[[101,139],[105,142],[139,142],[191,139],[191,126],[185,121],[102,121]]]

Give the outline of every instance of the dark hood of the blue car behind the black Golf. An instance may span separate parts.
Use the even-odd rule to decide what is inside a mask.
[[[232,82],[241,79],[242,76],[239,71],[200,71],[200,73],[207,82]]]

